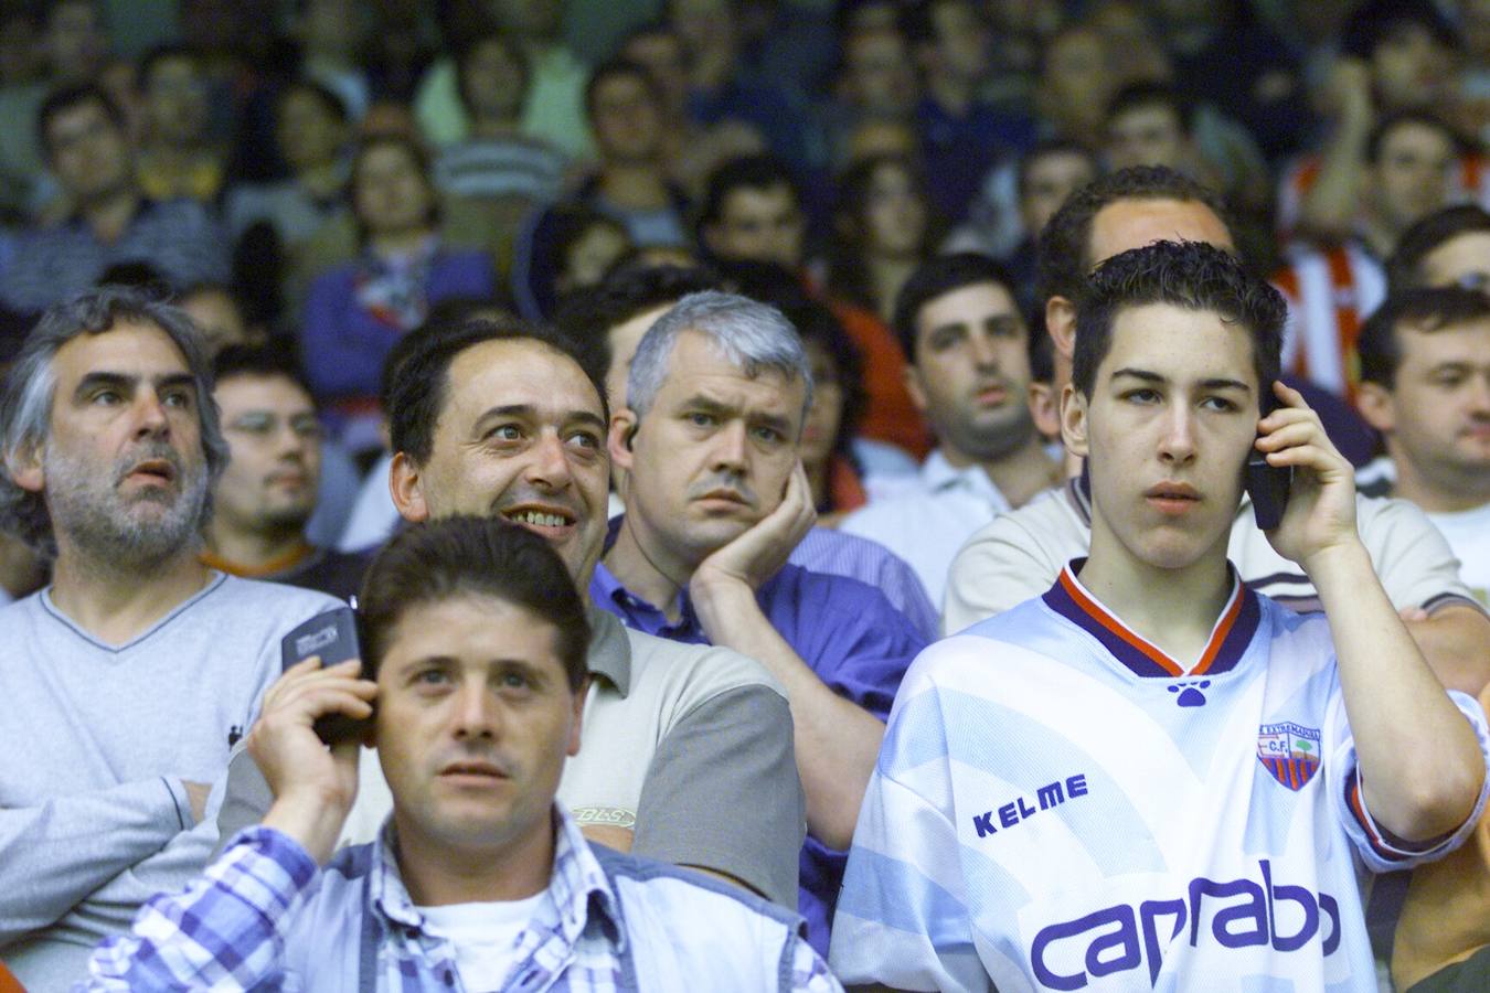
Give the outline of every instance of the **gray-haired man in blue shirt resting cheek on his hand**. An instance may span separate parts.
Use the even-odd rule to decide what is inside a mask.
[[[824,948],[884,719],[924,639],[873,587],[787,563],[817,518],[797,457],[811,400],[775,308],[711,290],[657,319],[611,415],[630,484],[590,597],[627,627],[733,648],[787,688],[808,799],[799,910]]]

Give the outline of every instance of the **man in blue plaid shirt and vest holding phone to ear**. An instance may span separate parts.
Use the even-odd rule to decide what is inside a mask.
[[[307,660],[249,750],[274,792],[180,893],[150,899],[77,989],[840,990],[800,919],[688,869],[592,847],[554,804],[580,747],[590,631],[557,554],[493,518],[416,524],[374,561],[359,662]],[[374,709],[375,703],[375,709]],[[367,719],[393,792],[331,858]]]

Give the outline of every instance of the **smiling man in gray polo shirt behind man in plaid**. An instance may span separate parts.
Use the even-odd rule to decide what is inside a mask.
[[[606,527],[605,369],[544,328],[471,322],[408,342],[386,399],[389,487],[410,521],[501,514],[559,551],[587,590]],[[736,652],[629,631],[593,610],[580,755],[559,786],[586,837],[723,875],[796,907],[806,810],[779,683]],[[343,841],[370,841],[390,808],[362,762]],[[234,758],[222,837],[271,795]]]

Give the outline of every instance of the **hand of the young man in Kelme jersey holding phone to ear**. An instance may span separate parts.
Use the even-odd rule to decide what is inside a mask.
[[[1256,450],[1268,466],[1292,469],[1286,508],[1268,540],[1310,576],[1322,555],[1356,548],[1356,475],[1304,396],[1272,384],[1278,406],[1258,423]],[[1255,497],[1256,499],[1256,497]]]

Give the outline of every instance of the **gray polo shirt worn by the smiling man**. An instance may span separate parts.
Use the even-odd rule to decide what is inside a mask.
[[[806,801],[785,691],[754,660],[624,628],[590,609],[580,753],[559,783],[581,826],[635,831],[633,855],[724,872],[796,910]],[[340,844],[371,841],[393,799],[365,749]],[[273,796],[247,752],[228,767],[219,846]]]

